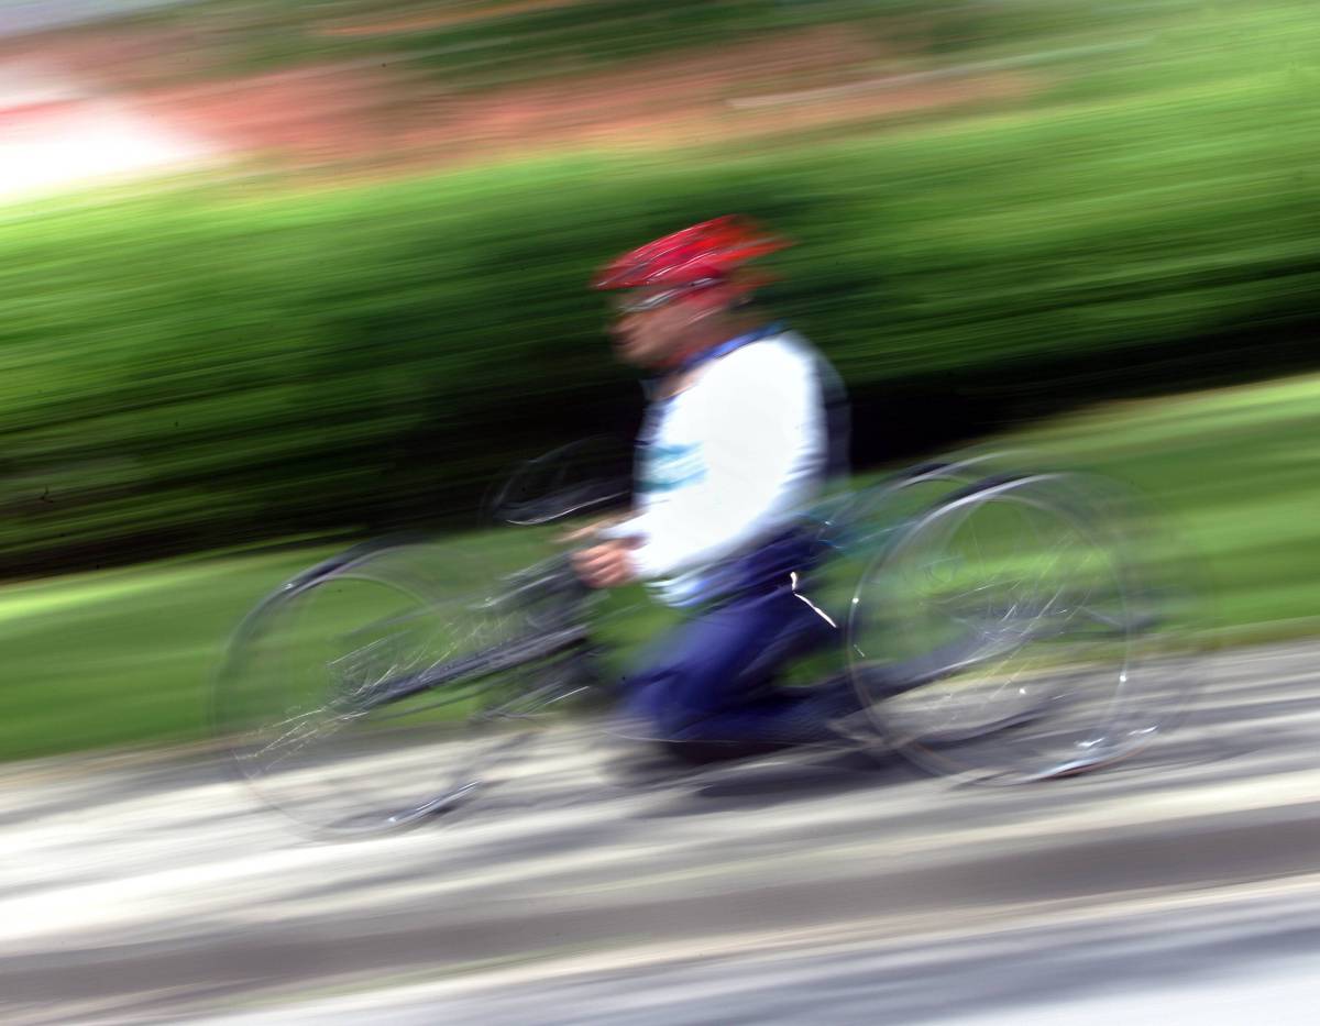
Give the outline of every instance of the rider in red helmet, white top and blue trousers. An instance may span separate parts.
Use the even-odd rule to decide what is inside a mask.
[[[620,290],[619,359],[653,377],[632,516],[587,529],[597,541],[574,567],[591,587],[645,582],[694,613],[626,680],[642,736],[775,748],[833,737],[832,720],[857,708],[838,686],[775,687],[789,659],[837,633],[803,593],[814,553],[795,522],[846,467],[847,443],[833,369],[747,306],[760,282],[744,265],[783,245],[719,218],[620,256],[595,281]]]

